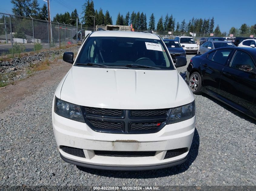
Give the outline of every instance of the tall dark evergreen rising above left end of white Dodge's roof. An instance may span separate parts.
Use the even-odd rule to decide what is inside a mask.
[[[93,17],[90,17],[92,15],[95,15],[94,11],[94,3],[93,1],[87,0],[87,2],[82,6],[84,17],[82,19],[82,22],[85,23],[85,26],[91,27],[94,25]]]

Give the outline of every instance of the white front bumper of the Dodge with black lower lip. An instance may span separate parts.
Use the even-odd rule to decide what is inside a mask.
[[[181,164],[191,146],[195,116],[191,119],[166,125],[151,134],[111,134],[93,131],[86,123],[66,119],[52,112],[55,139],[62,159],[78,166],[108,170],[146,170]],[[85,158],[64,152],[61,146],[83,149]],[[165,158],[167,150],[188,148],[178,156]],[[99,156],[101,151],[156,151],[148,157]]]

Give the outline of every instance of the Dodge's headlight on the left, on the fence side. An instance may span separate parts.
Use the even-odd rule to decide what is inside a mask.
[[[62,117],[85,123],[79,105],[62,101],[57,97],[55,97],[54,101],[54,112]]]

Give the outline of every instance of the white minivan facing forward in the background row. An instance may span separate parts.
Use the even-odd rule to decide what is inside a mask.
[[[194,53],[197,54],[198,46],[195,40],[192,37],[187,36],[178,36],[175,37],[174,40],[178,40],[186,53]]]

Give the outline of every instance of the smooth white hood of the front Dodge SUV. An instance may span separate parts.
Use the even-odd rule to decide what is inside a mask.
[[[185,105],[194,96],[177,70],[73,66],[60,99],[88,107],[161,109]]]

